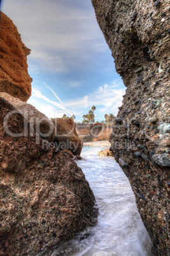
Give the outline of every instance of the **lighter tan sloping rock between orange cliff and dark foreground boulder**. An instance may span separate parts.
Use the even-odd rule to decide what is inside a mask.
[[[11,103],[15,109],[25,117],[25,120],[27,120],[32,129],[36,131],[42,139],[47,139],[49,142],[54,140],[56,132],[55,125],[46,115],[42,114],[31,104],[20,101],[20,99],[6,92],[0,92],[0,97],[3,97]]]

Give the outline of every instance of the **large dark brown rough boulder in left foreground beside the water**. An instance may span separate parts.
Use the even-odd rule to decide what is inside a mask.
[[[67,153],[36,145],[37,134],[9,136],[3,121],[15,108],[1,97],[0,106],[0,254],[36,255],[93,224],[95,198]],[[15,134],[23,123],[20,113],[6,122]]]

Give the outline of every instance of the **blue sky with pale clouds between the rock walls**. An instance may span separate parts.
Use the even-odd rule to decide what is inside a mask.
[[[98,26],[91,0],[2,0],[13,20],[33,78],[27,103],[49,118],[63,113],[82,121],[95,105],[95,120],[117,115],[125,87]]]

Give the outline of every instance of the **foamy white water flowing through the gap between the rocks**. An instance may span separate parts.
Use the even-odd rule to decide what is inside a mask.
[[[112,157],[98,157],[103,149],[85,146],[82,157],[86,160],[77,161],[95,194],[98,223],[54,249],[53,256],[153,255],[128,178]]]

